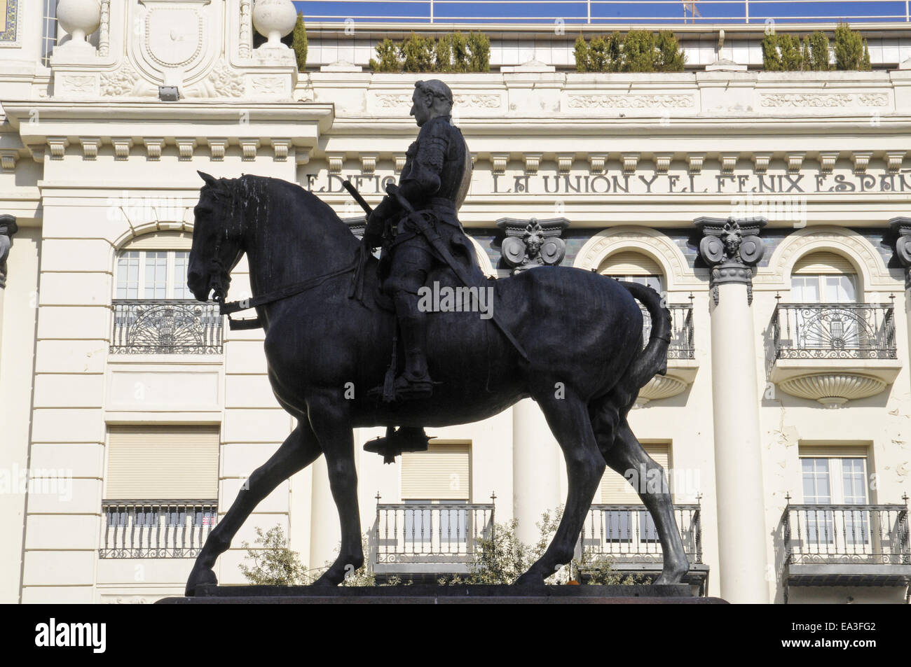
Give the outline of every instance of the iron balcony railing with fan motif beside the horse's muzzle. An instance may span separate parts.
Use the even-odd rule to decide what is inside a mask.
[[[114,300],[110,351],[116,354],[220,354],[216,303],[194,299]]]

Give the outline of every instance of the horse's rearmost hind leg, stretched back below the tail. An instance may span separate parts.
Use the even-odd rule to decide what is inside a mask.
[[[595,422],[598,424],[599,419],[596,418]],[[683,549],[677,520],[674,519],[674,508],[670,500],[668,480],[665,477],[664,469],[642,448],[640,441],[630,430],[626,419],[623,419],[617,429],[616,438],[610,442],[599,438],[599,446],[601,453],[604,454],[604,460],[608,462],[612,470],[616,470],[625,477],[628,470],[636,471],[635,475],[627,479],[634,488],[636,487],[634,481],[639,480],[639,488],[636,491],[655,522],[661,550],[664,554],[664,567],[655,583],[680,583],[683,575],[690,570],[690,562]],[[641,474],[643,468],[646,470],[644,476]],[[651,482],[656,477],[660,480],[660,488],[657,490],[652,488],[654,485]]]

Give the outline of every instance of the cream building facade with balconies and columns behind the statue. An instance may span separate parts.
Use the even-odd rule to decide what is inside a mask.
[[[358,233],[341,183],[379,201],[428,77],[372,73],[371,49],[469,26],[311,24],[299,72],[256,45],[248,0],[72,0],[62,25],[56,4],[3,5],[0,600],[154,601],[183,590],[294,428],[261,329],[229,330],[186,288],[197,171],[298,183]],[[470,27],[492,35],[492,71],[440,76],[472,152],[460,217],[482,268],[558,263],[666,295],[668,373],[630,425],[668,470],[688,581],[730,601],[906,602],[907,25],[864,26],[873,71],[822,73],[757,70],[752,25],[721,45],[717,26],[677,26],[689,65],[664,74],[570,71],[576,32]],[[243,259],[231,299],[247,276]],[[495,520],[537,541],[567,483],[535,403],[431,432],[394,465],[358,447],[370,567],[464,572]],[[626,480],[607,472],[594,503],[580,549],[660,570]],[[261,503],[222,583],[244,581],[241,542],[274,525],[313,570],[333,559],[324,461]]]

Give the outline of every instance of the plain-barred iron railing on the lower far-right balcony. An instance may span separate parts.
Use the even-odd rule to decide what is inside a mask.
[[[909,565],[906,505],[788,505],[785,564]]]

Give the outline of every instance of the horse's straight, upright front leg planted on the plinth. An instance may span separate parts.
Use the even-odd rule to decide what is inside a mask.
[[[361,512],[357,503],[357,470],[354,467],[354,433],[347,406],[339,399],[308,401],[310,423],[329,470],[329,487],[342,524],[339,556],[314,586],[336,586],[363,565]]]

